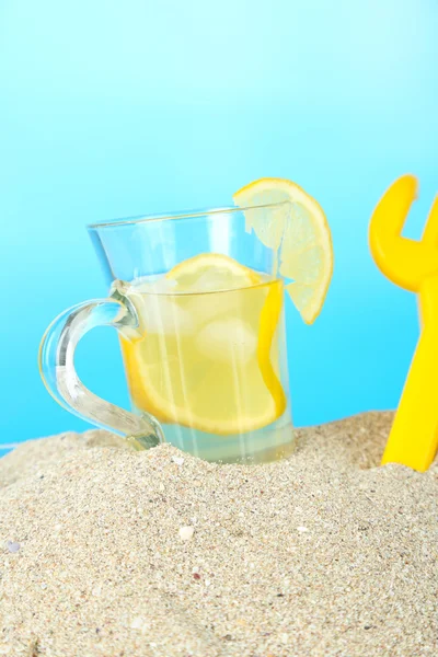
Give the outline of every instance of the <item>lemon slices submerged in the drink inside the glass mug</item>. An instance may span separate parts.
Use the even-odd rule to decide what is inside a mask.
[[[164,424],[221,436],[277,419],[286,408],[281,281],[220,254],[189,258],[164,279],[170,293],[153,293],[153,285],[128,292],[141,323],[136,339],[122,337],[136,406]]]

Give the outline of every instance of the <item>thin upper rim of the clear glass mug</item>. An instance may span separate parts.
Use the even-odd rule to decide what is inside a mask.
[[[267,203],[261,205],[238,207],[238,206],[224,206],[219,208],[207,208],[207,209],[195,209],[195,210],[182,210],[181,212],[164,212],[153,215],[138,215],[136,217],[116,218],[103,221],[94,221],[88,223],[88,230],[97,230],[102,228],[113,228],[122,226],[132,226],[136,223],[147,223],[152,221],[170,221],[172,219],[196,219],[198,217],[206,217],[209,215],[231,215],[233,212],[245,212],[246,210],[260,210],[265,208],[277,208],[281,206],[290,206],[289,200],[279,200],[276,203]]]

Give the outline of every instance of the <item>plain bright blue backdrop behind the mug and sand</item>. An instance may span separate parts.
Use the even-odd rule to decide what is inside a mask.
[[[437,34],[436,0],[0,0],[0,442],[88,427],[36,365],[49,321],[106,293],[87,222],[228,204],[269,175],[321,201],[336,256],[316,324],[288,307],[296,424],[394,407],[416,304],[367,227],[413,172],[419,237],[438,191]],[[127,405],[112,330],[78,361]]]

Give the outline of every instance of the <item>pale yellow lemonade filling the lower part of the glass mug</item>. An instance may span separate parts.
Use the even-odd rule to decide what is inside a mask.
[[[139,327],[120,338],[134,411],[169,442],[212,461],[266,461],[291,450],[279,279],[172,293],[123,285]]]

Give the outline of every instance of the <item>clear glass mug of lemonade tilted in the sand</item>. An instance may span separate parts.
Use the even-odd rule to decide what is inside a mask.
[[[288,221],[290,205],[279,203],[89,226],[110,295],[47,328],[39,367],[49,393],[136,449],[166,441],[208,461],[250,463],[289,454],[278,274]],[[131,412],[93,394],[74,370],[78,342],[101,325],[119,334]]]

